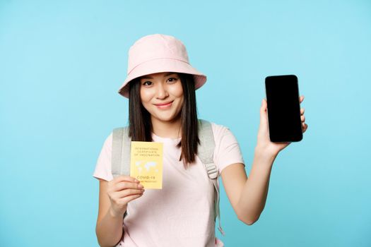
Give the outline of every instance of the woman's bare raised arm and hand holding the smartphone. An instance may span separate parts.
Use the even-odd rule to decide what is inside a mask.
[[[300,97],[300,103],[304,96]],[[223,169],[223,186],[235,213],[245,224],[254,224],[264,210],[268,195],[269,179],[274,159],[290,143],[272,143],[269,140],[266,100],[261,102],[260,126],[255,147],[254,161],[249,179],[243,164],[231,164]],[[307,131],[304,109],[300,109],[302,132]]]

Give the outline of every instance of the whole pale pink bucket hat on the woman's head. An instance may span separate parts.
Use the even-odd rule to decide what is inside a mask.
[[[187,50],[180,40],[170,35],[147,35],[129,49],[127,76],[119,94],[128,98],[131,80],[160,72],[192,74],[196,89],[206,83],[206,76],[189,64]]]

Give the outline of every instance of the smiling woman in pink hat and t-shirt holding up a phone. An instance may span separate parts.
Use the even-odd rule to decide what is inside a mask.
[[[100,246],[223,246],[214,232],[213,185],[197,157],[194,90],[204,83],[206,76],[189,64],[184,45],[175,37],[147,35],[129,49],[128,75],[119,90],[129,97],[129,135],[131,140],[163,143],[163,189],[144,193],[130,176],[113,178],[109,135],[93,175],[100,180]],[[303,109],[301,114],[304,132]],[[289,143],[270,142],[263,100],[247,179],[235,137],[224,126],[211,126],[213,161],[230,203],[238,219],[253,224],[264,209],[273,161]]]

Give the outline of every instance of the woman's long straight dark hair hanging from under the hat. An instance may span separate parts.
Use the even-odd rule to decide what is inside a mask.
[[[199,145],[199,125],[196,109],[196,93],[194,92],[194,77],[186,73],[177,73],[183,88],[183,106],[180,112],[182,123],[182,139],[178,147],[182,148],[179,160],[183,160],[187,169],[196,159]],[[152,141],[151,114],[143,107],[140,94],[140,78],[131,81],[129,85],[129,135],[134,141]]]

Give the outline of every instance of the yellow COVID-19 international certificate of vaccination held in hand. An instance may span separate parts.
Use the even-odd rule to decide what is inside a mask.
[[[144,188],[163,188],[163,143],[132,141],[130,176]]]

